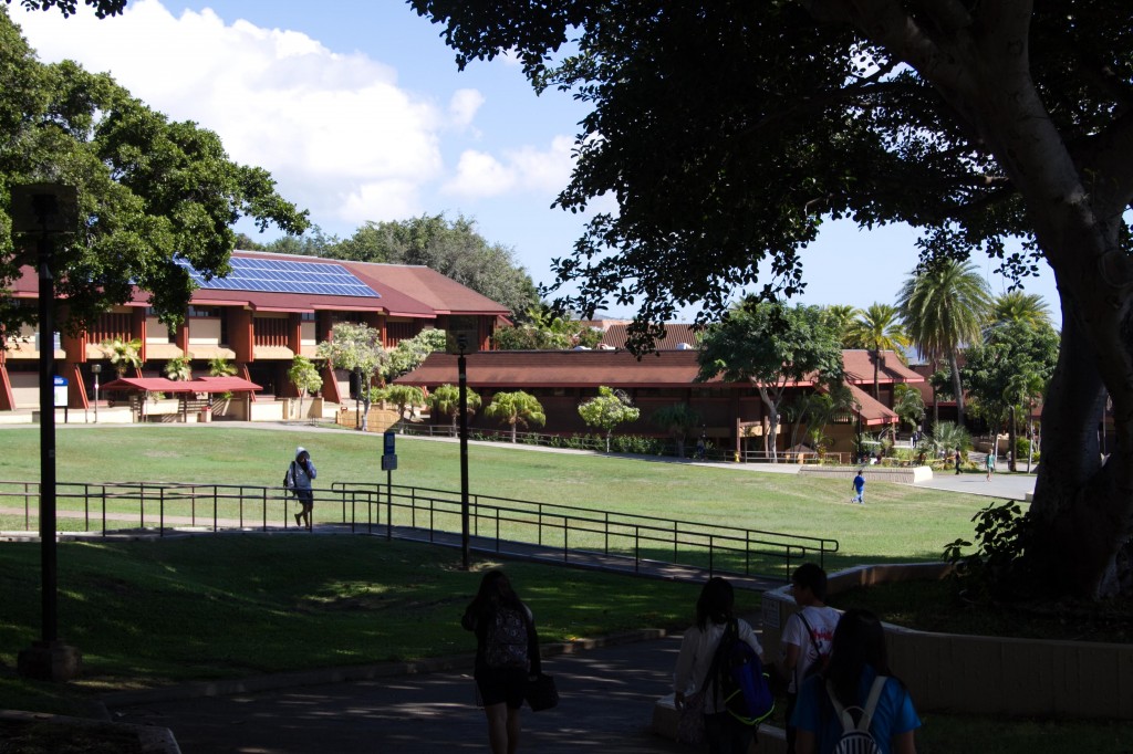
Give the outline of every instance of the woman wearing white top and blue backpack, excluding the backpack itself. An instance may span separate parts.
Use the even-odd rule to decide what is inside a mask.
[[[704,704],[704,736],[709,754],[747,754],[755,735],[752,726],[732,717],[717,693],[714,679],[708,678],[716,648],[719,646],[730,623],[735,623],[739,640],[747,642],[763,657],[755,632],[747,620],[736,618],[735,594],[732,584],[715,576],[705,583],[697,599],[697,622],[689,626],[681,640],[681,653],[676,658],[673,676],[674,703],[682,709],[690,701]],[[698,694],[699,697],[693,695]]]

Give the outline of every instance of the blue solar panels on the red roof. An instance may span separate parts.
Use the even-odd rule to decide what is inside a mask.
[[[187,259],[177,257],[177,264],[185,267],[193,282],[205,290],[381,298],[350,271],[337,264],[232,257],[232,272],[211,281],[205,281],[204,275]]]

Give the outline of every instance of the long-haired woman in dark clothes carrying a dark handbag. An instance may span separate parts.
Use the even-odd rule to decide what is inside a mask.
[[[484,574],[460,625],[476,633],[472,675],[488,721],[488,746],[492,754],[514,754],[528,683],[542,674],[535,619],[495,568]]]

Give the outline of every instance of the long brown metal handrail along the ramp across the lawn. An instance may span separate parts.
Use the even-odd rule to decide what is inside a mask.
[[[316,495],[324,506],[341,505],[341,522],[352,532],[381,533],[384,529],[387,538],[394,530],[399,535],[423,532],[433,542],[438,534],[460,531],[457,491],[335,482],[330,489],[316,488]],[[266,531],[273,521],[282,520],[288,529],[290,515],[298,511],[298,502],[283,488],[242,485],[60,482],[56,497],[60,511],[74,511],[68,502],[79,502],[85,531],[92,529],[92,508],[101,513],[103,535],[110,508],[118,508],[111,516],[121,516],[136,506],[138,528],[156,529],[160,535],[186,522],[213,531],[232,525]],[[39,482],[0,481],[0,506],[6,498],[23,498],[25,530],[29,530]],[[648,560],[707,568],[709,573],[785,579],[802,560],[817,560],[825,567],[826,556],[838,551],[837,540],[827,538],[491,495],[469,495],[469,514],[472,535],[496,552],[520,543],[543,548],[563,562],[582,552],[632,558],[636,569]]]

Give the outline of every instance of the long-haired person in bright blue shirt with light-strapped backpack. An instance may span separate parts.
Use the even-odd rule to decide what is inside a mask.
[[[799,754],[917,754],[921,721],[889,671],[877,616],[861,609],[842,616],[829,665],[803,682],[791,725]]]

